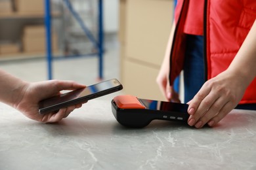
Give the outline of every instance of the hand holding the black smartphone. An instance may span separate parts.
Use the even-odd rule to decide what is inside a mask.
[[[13,107],[20,110],[25,116],[39,122],[58,122],[66,118],[74,109],[81,107],[82,103],[51,112],[49,114],[39,114],[39,101],[59,95],[62,90],[76,90],[85,88],[82,84],[73,81],[47,80],[43,82],[24,83],[19,97]]]

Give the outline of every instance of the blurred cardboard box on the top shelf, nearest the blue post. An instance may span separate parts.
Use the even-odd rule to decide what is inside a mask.
[[[15,0],[17,13],[22,14],[44,14],[45,5],[43,0]]]

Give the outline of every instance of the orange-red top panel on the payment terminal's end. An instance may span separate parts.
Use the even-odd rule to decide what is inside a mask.
[[[120,109],[146,109],[133,95],[117,95],[113,100]]]

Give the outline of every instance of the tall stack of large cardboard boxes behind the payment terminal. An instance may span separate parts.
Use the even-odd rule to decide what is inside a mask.
[[[156,84],[156,77],[171,31],[174,1],[119,2],[121,82],[125,93],[142,99],[165,100]]]

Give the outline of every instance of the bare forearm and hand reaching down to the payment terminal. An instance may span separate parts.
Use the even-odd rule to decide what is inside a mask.
[[[255,44],[256,20],[228,69],[205,82],[194,99],[188,102],[190,126],[215,126],[238,105],[256,76]]]

